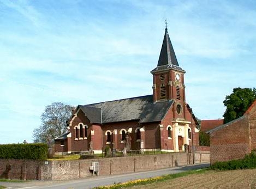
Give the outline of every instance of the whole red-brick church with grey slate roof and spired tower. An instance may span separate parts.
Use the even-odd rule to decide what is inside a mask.
[[[199,145],[198,121],[186,102],[184,74],[167,28],[153,75],[153,94],[78,105],[68,132],[55,138],[55,154],[93,150],[182,152]]]

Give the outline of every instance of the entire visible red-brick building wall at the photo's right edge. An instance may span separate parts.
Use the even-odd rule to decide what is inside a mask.
[[[211,163],[241,159],[256,149],[256,101],[241,118],[210,131]]]

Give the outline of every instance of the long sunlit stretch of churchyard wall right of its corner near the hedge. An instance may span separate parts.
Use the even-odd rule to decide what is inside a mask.
[[[51,161],[51,180],[77,179],[92,176],[89,166],[99,162],[99,175],[114,175],[188,164],[187,153],[111,157],[96,160]],[[126,162],[126,163],[123,163]],[[44,179],[44,178],[42,178]]]

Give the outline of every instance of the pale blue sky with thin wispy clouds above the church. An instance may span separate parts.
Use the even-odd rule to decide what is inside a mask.
[[[0,144],[33,142],[45,106],[152,94],[165,19],[186,101],[222,118],[255,86],[256,1],[0,0]]]

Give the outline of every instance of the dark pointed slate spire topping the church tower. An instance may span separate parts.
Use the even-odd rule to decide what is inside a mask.
[[[157,66],[168,65],[168,64],[179,66],[177,58],[175,56],[174,48],[171,45],[171,40],[169,38],[169,34],[167,31],[167,22],[165,20],[164,40],[163,40]]]

